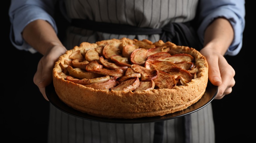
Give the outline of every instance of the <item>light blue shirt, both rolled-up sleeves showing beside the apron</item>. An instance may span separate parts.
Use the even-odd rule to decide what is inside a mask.
[[[53,19],[56,0],[12,0],[9,9],[11,22],[10,40],[20,50],[36,51],[22,38],[24,27],[30,22],[42,19],[48,21],[57,33],[56,23]],[[201,22],[198,35],[203,43],[206,27],[217,17],[225,17],[234,29],[234,40],[226,55],[235,56],[242,48],[243,31],[245,28],[245,0],[200,0],[201,9],[199,20]]]

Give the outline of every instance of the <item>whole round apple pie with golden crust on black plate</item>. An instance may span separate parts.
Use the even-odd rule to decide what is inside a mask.
[[[53,68],[59,99],[83,113],[136,119],[181,111],[203,96],[208,64],[194,48],[159,40],[82,42]]]

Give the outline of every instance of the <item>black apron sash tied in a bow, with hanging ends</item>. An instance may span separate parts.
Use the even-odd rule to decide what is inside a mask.
[[[170,41],[176,45],[188,46],[194,49],[202,49],[202,44],[198,39],[197,33],[191,26],[190,22],[187,23],[169,23],[162,28],[141,28],[127,24],[111,24],[103,22],[95,22],[84,19],[72,19],[71,25],[83,29],[119,34],[119,35],[153,35],[160,34],[160,40],[164,42]],[[181,117],[184,121],[184,141],[190,142],[190,127],[191,115]],[[161,143],[163,140],[163,126],[164,122],[155,122],[154,143]]]

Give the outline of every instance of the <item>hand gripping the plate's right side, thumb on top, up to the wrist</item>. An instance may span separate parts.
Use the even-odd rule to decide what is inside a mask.
[[[218,86],[215,99],[222,99],[232,92],[232,87],[235,85],[235,70],[227,63],[224,56],[214,49],[203,48],[200,53],[205,56],[208,62],[208,78],[210,82]]]

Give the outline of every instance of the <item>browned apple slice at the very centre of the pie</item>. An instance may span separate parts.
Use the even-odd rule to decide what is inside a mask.
[[[158,70],[150,70],[145,67],[133,64],[131,68],[141,74],[141,81],[150,81],[156,79],[158,76]]]

